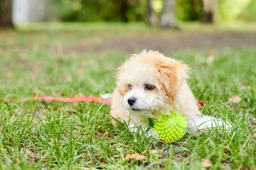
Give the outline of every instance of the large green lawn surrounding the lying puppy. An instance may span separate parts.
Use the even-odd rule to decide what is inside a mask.
[[[190,64],[188,83],[207,104],[203,114],[228,120],[233,125],[230,133],[204,130],[162,143],[144,137],[144,132],[131,132],[123,122],[114,126],[107,114],[110,108],[103,104],[21,102],[41,95],[111,93],[115,68],[129,54],[115,46],[97,51],[76,49],[77,44],[102,43],[100,37],[116,33],[150,35],[156,28],[102,24],[108,26],[108,31],[95,30],[93,24],[76,31],[0,30],[0,169],[256,169],[255,48],[165,53]],[[233,95],[242,101],[228,102]],[[126,159],[135,153],[140,161]],[[209,167],[202,164],[207,161]]]

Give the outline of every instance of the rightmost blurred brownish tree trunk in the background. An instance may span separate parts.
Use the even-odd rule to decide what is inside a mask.
[[[202,19],[201,19],[202,22],[215,23],[218,0],[202,0],[202,1],[203,1],[203,13],[202,13]]]

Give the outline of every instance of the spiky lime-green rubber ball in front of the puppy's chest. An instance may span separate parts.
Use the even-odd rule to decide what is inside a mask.
[[[163,115],[159,119],[153,119],[153,121],[153,128],[160,140],[177,141],[185,135],[187,121],[182,114]]]

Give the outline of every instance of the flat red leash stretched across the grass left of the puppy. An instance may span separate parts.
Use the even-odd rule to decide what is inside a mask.
[[[31,97],[30,99],[21,99],[21,101],[27,100],[51,100],[51,101],[61,101],[61,102],[97,102],[100,104],[110,104],[110,100],[103,99],[101,97],[95,96],[81,96],[81,97],[71,97],[71,98],[62,98],[62,97],[52,97],[52,96],[41,96],[41,97]]]

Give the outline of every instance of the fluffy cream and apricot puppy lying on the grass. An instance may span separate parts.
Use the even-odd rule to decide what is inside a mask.
[[[117,69],[110,115],[124,119],[129,127],[139,124],[144,128],[148,117],[158,118],[172,110],[186,117],[190,132],[222,124],[213,117],[202,116],[186,83],[188,73],[188,65],[158,51],[132,55]]]

